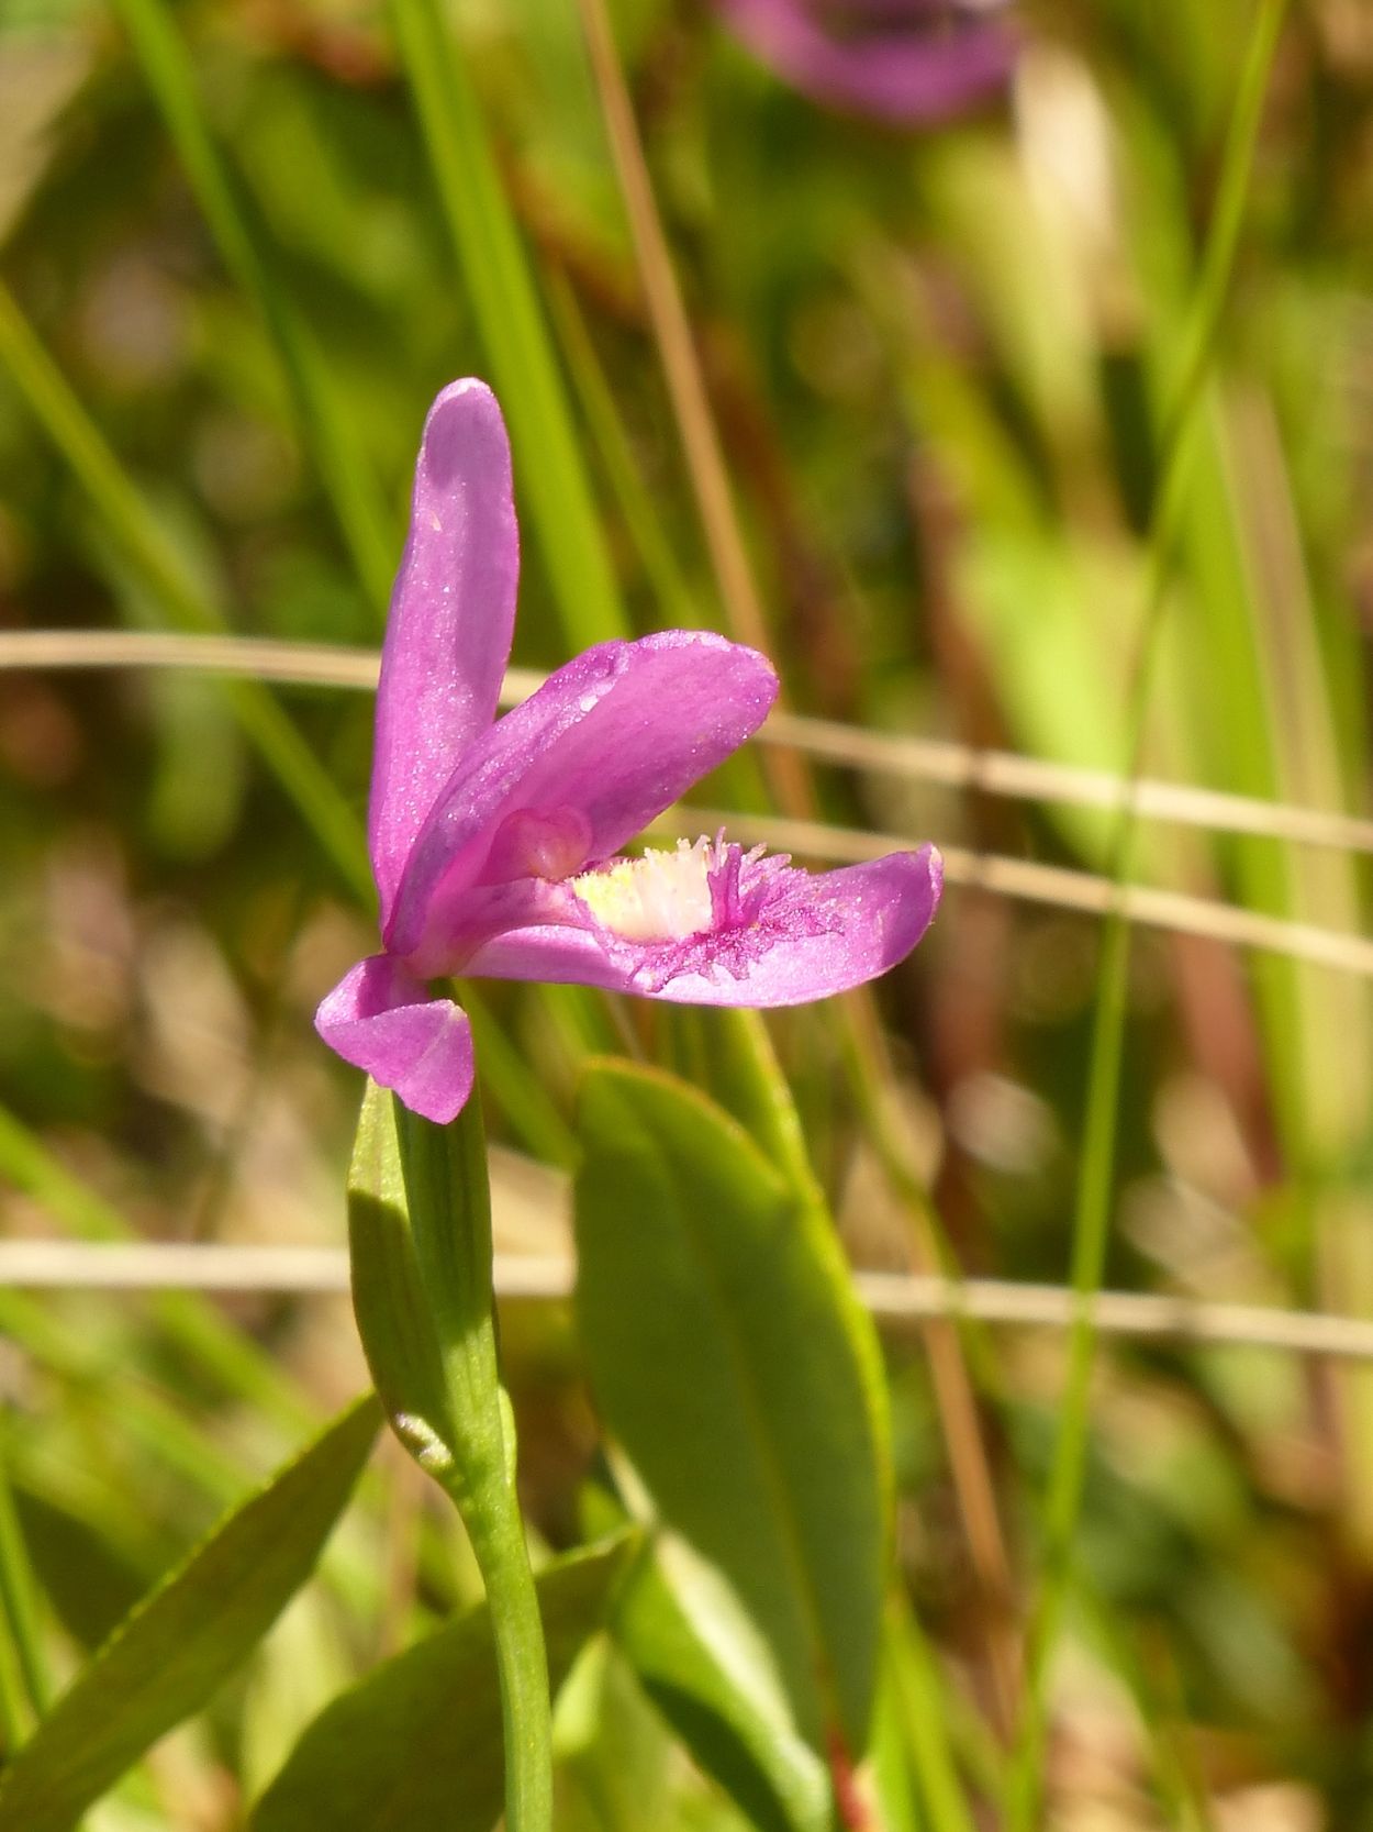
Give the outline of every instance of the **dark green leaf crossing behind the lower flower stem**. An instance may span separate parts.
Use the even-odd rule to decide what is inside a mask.
[[[558,1685],[600,1621],[637,1535],[538,1574]],[[502,1717],[491,1612],[470,1610],[335,1698],[258,1801],[251,1832],[487,1832],[502,1808]]]

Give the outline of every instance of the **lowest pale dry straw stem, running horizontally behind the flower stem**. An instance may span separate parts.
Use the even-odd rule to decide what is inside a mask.
[[[494,1277],[496,1295],[505,1303],[555,1303],[571,1295],[575,1266],[564,1253],[496,1253]],[[1373,1361],[1373,1321],[1325,1312],[1137,1292],[1100,1292],[1080,1301],[1053,1284],[897,1271],[855,1271],[853,1282],[877,1323],[893,1330],[956,1317],[1067,1330],[1086,1310],[1106,1336]],[[0,1288],[328,1297],[348,1292],[348,1255],[342,1248],[315,1246],[0,1240]]]

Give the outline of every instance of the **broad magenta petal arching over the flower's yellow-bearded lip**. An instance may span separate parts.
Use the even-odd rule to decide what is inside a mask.
[[[514,707],[445,786],[405,870],[386,945],[423,971],[461,958],[463,898],[492,861],[518,876],[522,824],[584,835],[604,859],[762,725],[776,674],[752,649],[708,630],[600,643]],[[531,859],[525,870],[535,874]]]

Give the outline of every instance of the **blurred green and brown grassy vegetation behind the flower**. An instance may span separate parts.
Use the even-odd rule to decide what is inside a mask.
[[[597,22],[599,0],[0,13],[5,1233],[342,1242],[359,1088],[309,1019],[370,945],[366,692],[317,650],[73,672],[9,632],[375,647],[425,407],[476,372],[514,440],[516,661],[674,623],[760,639],[789,707],[844,729],[756,747],[710,806],[741,837],[822,823],[791,828],[816,861],[870,834],[948,848],[906,967],[769,1019],[851,1257],[1368,1315],[1369,830],[1146,801],[1122,846],[1080,779],[963,782],[961,753],[862,735],[1362,812],[1373,15],[1027,7],[1005,92],[924,130],[827,112],[703,4],[619,0],[610,57]],[[1181,894],[1137,905],[1126,945],[1100,920],[1117,870]],[[589,1055],[730,1107],[758,1046],[578,989],[485,987],[476,1020],[498,1248],[540,1257],[568,1246],[578,1134],[610,1150],[624,1123],[604,1068],[575,1105]],[[692,1140],[743,1150],[692,1123],[688,1163]],[[584,1319],[648,1277],[659,1209],[624,1194]],[[5,1286],[0,1312],[13,1748],[364,1369],[328,1295]],[[644,1429],[610,1336],[503,1310],[553,1550],[635,1508],[608,1484]],[[884,1356],[897,1532],[849,1823],[1373,1827],[1364,1370],[1177,1339],[1093,1367],[1084,1328],[906,1325]],[[868,1480],[833,1455],[840,1493]],[[474,1598],[388,1445],[319,1579],[90,1823],[240,1823],[341,1687]],[[575,1669],[566,1825],[815,1825],[805,1750],[760,1806],[756,1762],[665,1704],[661,1645],[621,1623]]]

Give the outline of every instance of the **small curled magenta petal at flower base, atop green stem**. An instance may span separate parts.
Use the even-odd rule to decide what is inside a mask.
[[[315,1013],[315,1030],[344,1063],[364,1068],[405,1105],[447,1125],[472,1092],[472,1028],[450,998],[388,954],[361,960]]]

